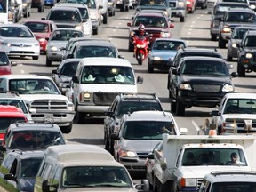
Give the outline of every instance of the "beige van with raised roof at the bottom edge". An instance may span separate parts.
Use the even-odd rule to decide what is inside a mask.
[[[124,165],[104,148],[67,144],[46,149],[34,191],[148,191],[148,180],[141,183],[133,185]]]

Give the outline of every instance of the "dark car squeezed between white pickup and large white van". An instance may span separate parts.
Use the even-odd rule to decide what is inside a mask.
[[[76,68],[81,59],[62,60],[57,69],[52,70],[52,79],[57,84],[61,94],[68,91],[68,84],[76,73]]]

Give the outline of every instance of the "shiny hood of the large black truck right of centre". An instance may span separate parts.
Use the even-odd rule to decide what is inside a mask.
[[[180,82],[188,82],[193,84],[223,84],[231,83],[229,76],[187,76],[181,75]],[[203,83],[202,83],[203,82]]]

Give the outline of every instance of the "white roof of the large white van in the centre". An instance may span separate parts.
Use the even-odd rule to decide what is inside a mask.
[[[132,67],[129,60],[119,59],[119,58],[109,58],[109,57],[93,57],[93,58],[83,58],[80,60],[83,66],[125,66]],[[80,63],[78,65],[80,65]]]

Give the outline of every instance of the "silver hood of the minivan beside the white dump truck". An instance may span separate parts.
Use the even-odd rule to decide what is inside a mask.
[[[160,140],[121,140],[121,148],[140,153],[149,153],[156,147]]]

